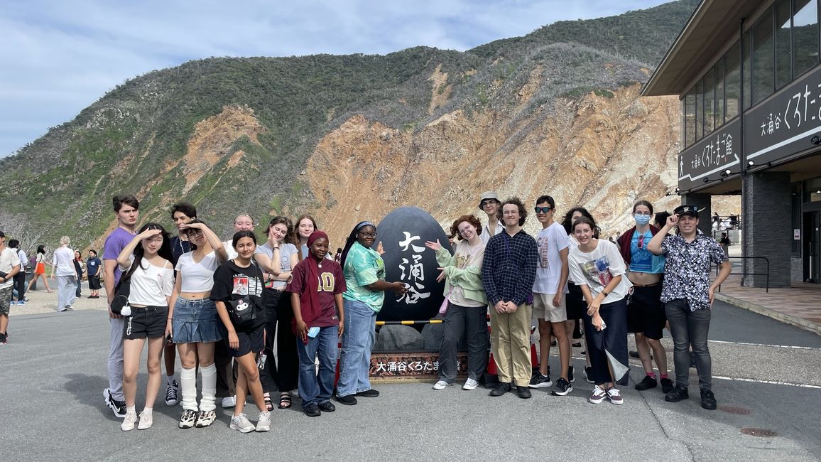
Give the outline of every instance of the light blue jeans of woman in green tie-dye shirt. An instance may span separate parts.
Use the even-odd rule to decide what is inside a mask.
[[[370,350],[375,343],[376,312],[365,303],[346,299],[337,396],[370,390]]]

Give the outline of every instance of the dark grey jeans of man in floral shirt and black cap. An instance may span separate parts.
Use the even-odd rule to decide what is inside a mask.
[[[673,363],[676,365],[676,386],[687,388],[690,382],[690,346],[695,356],[695,371],[699,373],[699,389],[713,388],[713,361],[707,347],[707,336],[710,332],[709,308],[690,311],[686,298],[677,298],[664,303],[667,321],[670,321],[670,334],[673,343]]]

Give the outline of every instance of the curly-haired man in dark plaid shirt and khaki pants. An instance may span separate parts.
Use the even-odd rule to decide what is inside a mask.
[[[516,385],[520,398],[530,398],[530,316],[528,298],[533,289],[539,251],[536,241],[521,229],[527,210],[518,197],[502,203],[505,229],[490,238],[482,262],[482,282],[490,305],[493,358],[499,385],[491,396],[501,396]]]

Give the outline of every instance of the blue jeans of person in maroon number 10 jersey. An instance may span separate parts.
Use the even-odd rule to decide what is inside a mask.
[[[321,327],[319,334],[308,343],[296,339],[296,351],[300,355],[300,398],[302,409],[309,404],[322,404],[331,400],[333,379],[337,375],[337,343],[339,327]],[[319,373],[314,361],[319,355]]]

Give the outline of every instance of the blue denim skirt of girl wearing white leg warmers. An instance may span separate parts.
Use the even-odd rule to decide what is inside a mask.
[[[217,305],[209,298],[177,297],[172,319],[172,341],[175,344],[216,342],[222,340]]]

